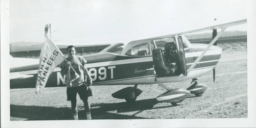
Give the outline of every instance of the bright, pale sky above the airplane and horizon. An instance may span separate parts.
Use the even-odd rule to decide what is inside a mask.
[[[47,23],[56,44],[132,41],[246,19],[246,5],[238,0],[11,0],[10,42],[44,42]],[[227,31],[232,30],[246,31],[246,24]]]

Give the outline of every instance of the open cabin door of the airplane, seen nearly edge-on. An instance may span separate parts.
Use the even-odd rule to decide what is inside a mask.
[[[183,42],[181,36],[178,38],[178,56],[180,60],[180,65],[181,65],[181,72],[183,75],[187,75],[187,65],[186,65],[186,58],[185,58],[185,52],[183,48]]]

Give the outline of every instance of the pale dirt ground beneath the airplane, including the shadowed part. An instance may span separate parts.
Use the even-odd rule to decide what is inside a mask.
[[[240,43],[238,43],[240,44]],[[233,45],[238,45],[233,44]],[[220,44],[222,45],[222,44]],[[226,45],[225,45],[226,46]],[[228,49],[231,46],[226,46]],[[143,90],[134,103],[116,99],[112,93],[133,85],[92,86],[90,97],[93,119],[180,119],[180,118],[247,118],[247,52],[224,50],[216,66],[216,82],[212,72],[199,78],[208,89],[201,97],[190,94],[181,106],[158,103],[156,97],[165,90],[158,85],[139,85]],[[168,87],[187,88],[190,80],[167,83]],[[86,119],[78,100],[79,119]],[[10,89],[11,120],[72,120],[66,87],[45,88],[36,95],[34,88]]]

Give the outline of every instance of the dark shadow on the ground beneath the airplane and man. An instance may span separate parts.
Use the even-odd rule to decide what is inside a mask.
[[[158,104],[155,98],[138,100],[133,103],[108,103],[93,104],[91,112],[93,119],[145,119],[133,115],[124,115],[119,113],[134,112],[139,113],[143,110],[159,109],[172,107],[153,108]],[[86,112],[83,106],[78,106],[78,116],[80,120],[86,119]],[[109,111],[115,111],[110,113]],[[137,112],[139,111],[139,112]],[[73,120],[73,116],[69,107],[42,107],[42,106],[19,106],[10,105],[11,120]]]

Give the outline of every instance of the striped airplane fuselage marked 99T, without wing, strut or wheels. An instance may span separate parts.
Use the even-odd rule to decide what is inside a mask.
[[[125,55],[124,50],[134,49],[133,47],[139,45],[140,43],[131,43],[132,46],[126,46],[130,48],[123,48],[121,54],[115,54],[111,52],[101,52],[94,55],[83,56],[87,60],[86,67],[88,68],[91,77],[93,79],[93,85],[122,85],[122,84],[154,84],[157,82],[169,83],[169,82],[180,82],[193,78],[199,78],[203,74],[211,71],[214,68],[222,54],[222,49],[218,46],[211,46],[211,48],[206,52],[203,58],[196,64],[196,66],[187,74],[181,73],[180,62],[177,63],[179,74],[166,76],[159,75],[156,73],[156,61],[154,60],[154,48],[151,46],[151,42],[147,42],[148,46],[147,54],[129,56]],[[178,47],[178,46],[177,46]],[[186,65],[184,70],[187,70],[195,60],[202,54],[203,50],[207,47],[207,44],[193,44],[189,47],[184,48],[184,58]],[[141,50],[140,48],[138,48]],[[177,48],[179,50],[179,48]],[[19,63],[20,63],[19,59]],[[26,61],[29,61],[28,59]],[[33,62],[35,59],[33,59]],[[180,59],[179,59],[180,61]],[[39,63],[39,60],[37,59]],[[16,62],[13,62],[16,63]],[[29,62],[27,62],[29,63]],[[32,74],[32,78],[11,80],[11,88],[26,88],[34,87],[38,63],[33,63],[31,65],[23,65],[22,67],[12,67],[10,68],[10,73],[23,73]],[[54,72],[50,75],[46,87],[58,87],[65,86],[65,77],[60,74],[60,68],[55,68]]]

